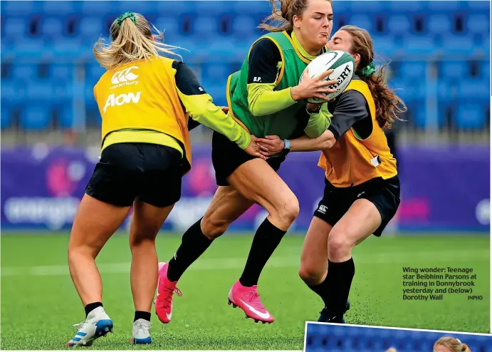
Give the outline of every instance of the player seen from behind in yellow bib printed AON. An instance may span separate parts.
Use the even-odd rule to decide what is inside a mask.
[[[150,309],[158,270],[155,237],[181,197],[182,175],[192,164],[188,114],[223,133],[245,155],[263,157],[251,135],[212,103],[184,63],[159,56],[159,51],[172,51],[157,41],[142,15],[122,14],[112,23],[110,36],[109,44],[100,39],[94,47],[95,58],[107,69],[94,87],[103,120],[100,162],[68,244],[68,266],[86,320],[67,346],[90,346],[112,331],[95,257],[131,205],[132,343],[151,343]]]

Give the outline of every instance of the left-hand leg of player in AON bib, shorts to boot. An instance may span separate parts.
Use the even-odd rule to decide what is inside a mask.
[[[104,244],[127,216],[135,190],[135,173],[122,168],[132,163],[132,145],[106,148],[96,165],[70,233],[68,267],[75,289],[85,308],[86,319],[68,346],[90,346],[95,338],[112,329],[112,321],[103,309],[103,285],[95,264]]]

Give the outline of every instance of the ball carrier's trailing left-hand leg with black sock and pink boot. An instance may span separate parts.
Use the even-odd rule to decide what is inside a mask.
[[[160,321],[169,323],[171,320],[172,296],[174,291],[181,294],[176,285],[184,271],[251,205],[253,202],[246,200],[233,187],[219,186],[204,217],[184,233],[174,257],[168,263],[159,263],[159,289],[155,310]]]

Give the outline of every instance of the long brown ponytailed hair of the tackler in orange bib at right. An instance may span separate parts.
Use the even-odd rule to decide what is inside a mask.
[[[367,70],[364,70],[374,60],[374,49],[372,46],[372,38],[370,33],[365,29],[361,29],[357,26],[342,26],[339,31],[346,31],[352,37],[352,53],[358,53],[360,55],[360,61],[357,66],[357,76],[362,79],[369,90],[371,91],[372,98],[376,105],[376,120],[381,128],[390,129],[394,123],[394,120],[402,120],[399,118],[400,113],[407,111],[407,106],[394,91],[386,85],[386,72],[385,69],[388,63],[385,63],[379,70],[367,74]],[[372,70],[371,70],[372,71]]]

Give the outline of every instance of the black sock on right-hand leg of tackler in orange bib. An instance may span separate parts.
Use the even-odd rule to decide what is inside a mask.
[[[328,261],[328,275],[325,279],[325,285],[329,291],[326,291],[323,301],[325,301],[325,306],[331,314],[339,315],[345,311],[354,274],[354,259],[350,258],[341,263]]]

